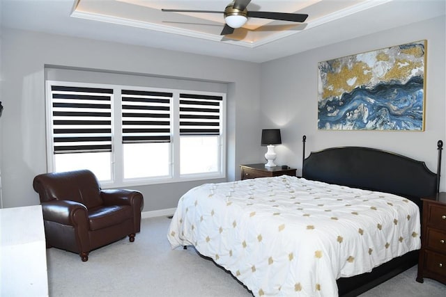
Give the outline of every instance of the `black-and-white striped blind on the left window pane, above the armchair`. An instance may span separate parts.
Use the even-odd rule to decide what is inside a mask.
[[[112,151],[109,88],[51,86],[54,154]]]

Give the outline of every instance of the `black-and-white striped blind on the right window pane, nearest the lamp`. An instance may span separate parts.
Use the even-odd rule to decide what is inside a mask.
[[[221,96],[180,94],[180,135],[220,135]]]

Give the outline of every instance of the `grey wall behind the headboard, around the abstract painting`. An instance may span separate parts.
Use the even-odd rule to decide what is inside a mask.
[[[307,154],[325,147],[376,147],[425,161],[436,172],[437,141],[445,141],[446,47],[445,17],[389,29],[339,42],[302,54],[263,63],[261,67],[261,119],[263,127],[281,127],[277,163],[302,167],[302,135]],[[340,32],[341,34],[341,32]],[[364,51],[427,40],[425,131],[318,131],[318,62]],[[446,156],[440,190],[446,190]]]

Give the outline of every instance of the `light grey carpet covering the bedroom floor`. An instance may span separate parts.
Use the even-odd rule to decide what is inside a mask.
[[[49,296],[231,296],[252,294],[193,248],[171,250],[166,217],[145,218],[133,243],[123,239],[93,250],[88,262],[56,248],[47,250]],[[361,297],[444,297],[446,286],[415,282],[416,266]]]

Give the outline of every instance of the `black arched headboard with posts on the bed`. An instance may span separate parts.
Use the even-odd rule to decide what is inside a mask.
[[[423,161],[369,147],[332,147],[311,152],[305,158],[306,138],[302,138],[302,177],[305,179],[393,193],[407,198],[422,198],[438,193],[443,141],[437,143],[438,166],[434,173]]]

